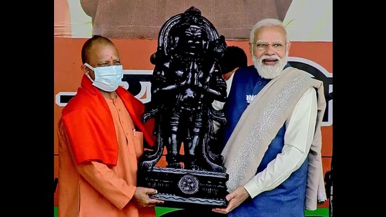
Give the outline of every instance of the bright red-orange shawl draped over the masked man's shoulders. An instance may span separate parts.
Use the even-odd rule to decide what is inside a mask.
[[[149,147],[154,146],[154,118],[145,124],[141,121],[145,105],[121,86],[116,93],[133,119],[135,129],[143,133]],[[76,164],[90,161],[108,166],[117,164],[119,150],[112,114],[102,93],[86,75],[81,79],[76,96],[62,110],[62,120]]]

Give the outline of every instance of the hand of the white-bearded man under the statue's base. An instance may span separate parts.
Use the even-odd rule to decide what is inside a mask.
[[[227,199],[228,206],[226,208],[214,208],[212,211],[215,213],[223,213],[227,214],[237,206],[239,206],[242,202],[248,199],[249,194],[243,186],[239,186],[233,192],[229,193],[225,199]]]

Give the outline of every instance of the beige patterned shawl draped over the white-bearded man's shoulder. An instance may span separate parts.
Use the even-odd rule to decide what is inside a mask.
[[[293,108],[310,87],[317,90],[317,125],[308,154],[305,208],[317,209],[326,201],[321,164],[321,122],[326,109],[323,83],[305,71],[287,67],[269,81],[241,115],[232,135],[222,150],[224,166],[229,174],[227,188],[233,191],[255,176],[268,145],[291,116]]]

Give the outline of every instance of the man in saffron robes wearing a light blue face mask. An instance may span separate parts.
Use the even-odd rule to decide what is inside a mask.
[[[137,187],[138,159],[154,145],[154,120],[119,86],[123,70],[112,41],[94,36],[81,49],[84,76],[59,121],[58,216],[156,216],[157,192]]]

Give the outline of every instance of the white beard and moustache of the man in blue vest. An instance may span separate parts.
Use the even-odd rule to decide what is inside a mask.
[[[288,53],[288,52],[287,52]],[[266,58],[277,58],[278,63],[275,65],[264,65],[262,63],[262,60]],[[256,58],[255,55],[252,56],[253,64],[255,65],[255,69],[258,70],[258,73],[261,77],[265,79],[274,79],[275,77],[278,77],[281,72],[283,72],[284,66],[287,64],[287,58],[288,55],[284,58],[279,58],[278,55],[262,55],[260,59]]]

